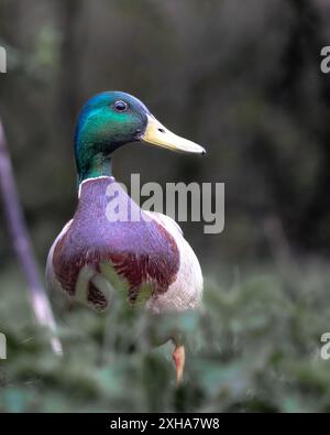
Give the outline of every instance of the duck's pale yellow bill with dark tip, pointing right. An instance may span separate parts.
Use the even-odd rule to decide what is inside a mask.
[[[151,145],[166,148],[172,151],[206,154],[206,150],[202,146],[174,134],[151,115],[147,115],[146,128],[144,133],[141,134],[141,140]]]

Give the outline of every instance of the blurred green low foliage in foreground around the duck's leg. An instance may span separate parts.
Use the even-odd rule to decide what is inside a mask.
[[[237,272],[231,284],[208,281],[201,313],[156,322],[121,304],[105,316],[62,311],[62,359],[9,274],[10,285],[1,281],[8,360],[0,361],[0,411],[329,412],[320,337],[330,324],[330,274],[322,264],[293,270],[294,287],[267,269]],[[173,346],[152,346],[174,330],[187,346],[179,389]]]

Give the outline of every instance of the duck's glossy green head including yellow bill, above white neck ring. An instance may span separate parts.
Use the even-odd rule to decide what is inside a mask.
[[[112,152],[133,142],[205,154],[204,148],[161,124],[138,98],[121,91],[102,93],[87,101],[76,127],[75,157],[79,183],[111,175]]]

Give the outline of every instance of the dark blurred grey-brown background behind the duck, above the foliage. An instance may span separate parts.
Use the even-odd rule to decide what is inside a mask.
[[[283,268],[297,267],[299,275],[307,263],[327,271],[327,0],[1,0],[0,45],[8,51],[0,115],[41,268],[76,206],[79,108],[96,93],[120,89],[208,154],[127,146],[114,155],[119,181],[141,173],[142,183],[226,183],[221,235],[183,225],[206,278],[221,281],[224,271],[235,285],[245,268],[265,265],[276,279]],[[1,292],[16,265],[0,219]],[[286,273],[290,298],[301,286]],[[317,285],[326,300],[322,273],[322,283],[309,282],[307,300]]]

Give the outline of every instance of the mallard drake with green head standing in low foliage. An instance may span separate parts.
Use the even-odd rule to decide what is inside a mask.
[[[132,305],[147,286],[145,308],[153,314],[199,307],[202,273],[179,226],[165,215],[142,210],[128,196],[112,176],[111,156],[118,148],[134,142],[201,155],[205,149],[172,133],[138,98],[121,91],[106,91],[87,101],[74,142],[78,206],[51,248],[48,287],[102,312],[111,305],[114,271],[127,284]],[[112,197],[109,189],[116,191]],[[117,211],[123,208],[129,218],[109,216],[113,198]],[[174,341],[180,381],[185,348]]]

